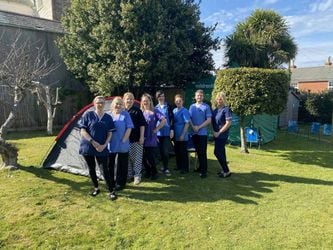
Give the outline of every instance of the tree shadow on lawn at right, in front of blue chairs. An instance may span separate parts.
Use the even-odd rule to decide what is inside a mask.
[[[277,140],[264,145],[262,150],[299,164],[333,168],[333,145],[293,134],[279,134]]]

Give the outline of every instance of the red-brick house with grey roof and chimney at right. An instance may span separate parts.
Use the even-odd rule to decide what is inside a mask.
[[[328,57],[325,65],[297,68],[291,65],[291,87],[300,92],[320,93],[333,90],[333,65]]]

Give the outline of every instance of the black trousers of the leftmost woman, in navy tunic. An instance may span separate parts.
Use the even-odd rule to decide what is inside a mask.
[[[103,171],[103,177],[106,182],[106,185],[110,192],[113,191],[115,183],[113,178],[111,178],[108,166],[108,157],[107,156],[92,156],[84,155],[84,159],[87,162],[89,168],[90,179],[95,188],[98,188],[98,179],[96,175],[96,161],[100,169]]]

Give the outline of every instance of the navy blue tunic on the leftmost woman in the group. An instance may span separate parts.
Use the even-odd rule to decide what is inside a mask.
[[[99,118],[95,111],[89,111],[83,115],[79,121],[79,128],[84,128],[93,140],[101,145],[105,143],[108,132],[115,130],[110,115],[104,113],[104,115]],[[98,152],[87,139],[82,137],[79,153],[81,155],[107,156],[109,152],[107,147],[105,147],[102,152]]]

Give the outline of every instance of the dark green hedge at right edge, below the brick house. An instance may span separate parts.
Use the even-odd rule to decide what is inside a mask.
[[[302,93],[299,120],[331,123],[333,112],[333,92]]]

